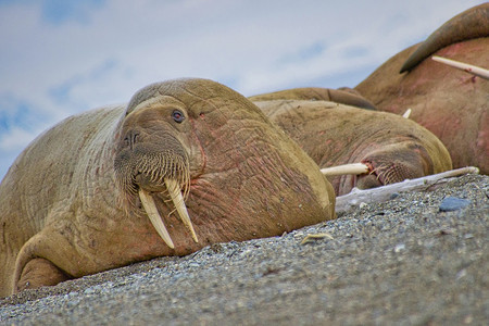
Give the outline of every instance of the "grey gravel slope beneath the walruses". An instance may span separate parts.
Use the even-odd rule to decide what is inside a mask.
[[[447,198],[459,205],[446,212]],[[487,325],[488,230],[489,176],[466,175],[281,237],[0,299],[0,324]]]

